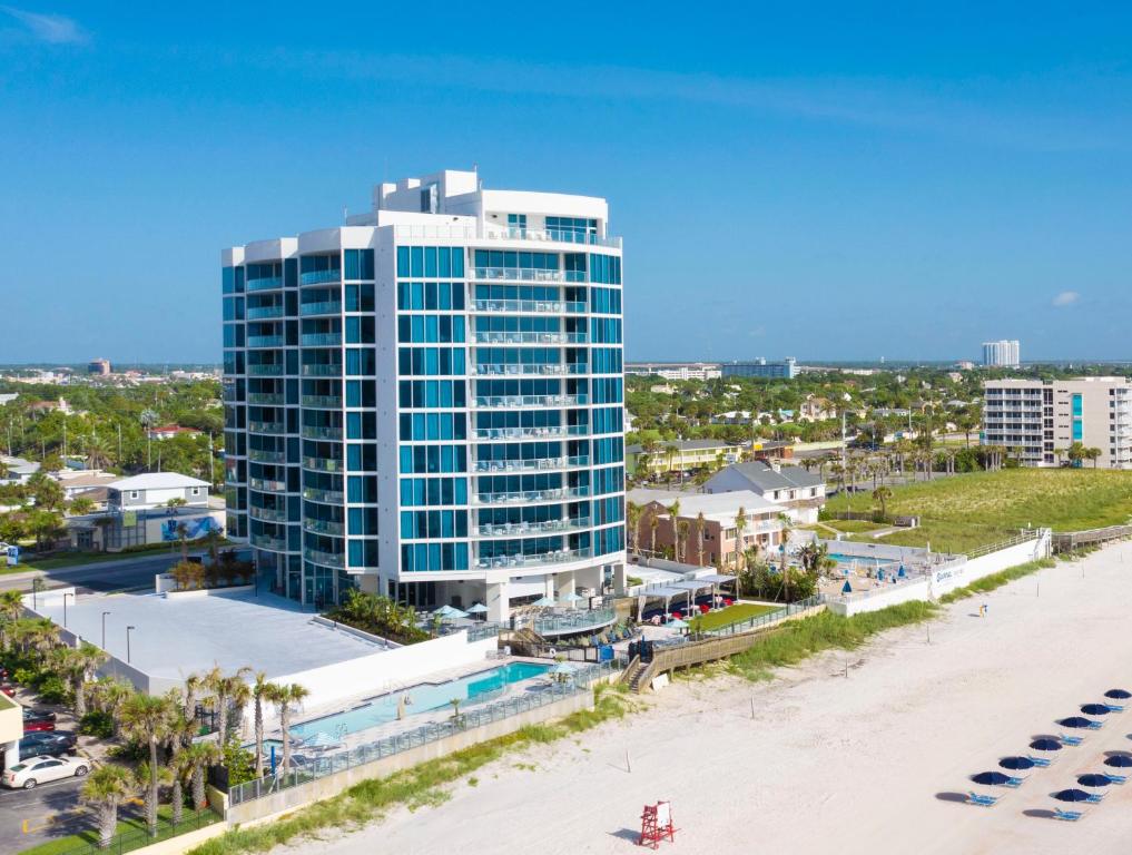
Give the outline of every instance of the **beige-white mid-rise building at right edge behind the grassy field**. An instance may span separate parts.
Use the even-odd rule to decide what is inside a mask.
[[[1086,465],[1132,469],[1132,384],[1124,377],[986,381],[984,445],[1018,450],[1030,467],[1069,461],[1074,443],[1100,451]]]

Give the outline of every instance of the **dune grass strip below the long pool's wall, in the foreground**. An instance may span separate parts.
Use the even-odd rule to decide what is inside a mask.
[[[593,709],[578,710],[555,723],[528,725],[515,733],[429,760],[386,778],[361,781],[336,796],[274,822],[226,831],[191,849],[189,855],[267,852],[283,844],[317,838],[327,829],[357,829],[397,806],[415,810],[437,805],[448,798],[448,785],[508,752],[589,730],[603,721],[623,718],[634,709],[633,700],[624,690],[602,684],[594,690]]]

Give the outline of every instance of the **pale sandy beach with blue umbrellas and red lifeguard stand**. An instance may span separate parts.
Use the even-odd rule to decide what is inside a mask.
[[[773,683],[678,681],[632,718],[484,767],[438,807],[294,848],[632,853],[642,805],[667,798],[679,829],[675,845],[662,844],[670,852],[1126,852],[1132,781],[1108,787],[1080,822],[1048,813],[1060,804],[1049,794],[1105,769],[1106,751],[1132,751],[1132,708],[1098,732],[1073,732],[1088,734],[1083,744],[1018,790],[968,780],[1063,730],[1054,719],[1113,687],[1132,691],[1129,544]],[[1003,798],[993,809],[960,803],[969,789]]]

